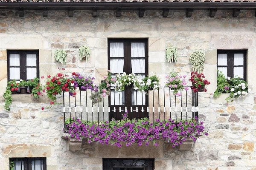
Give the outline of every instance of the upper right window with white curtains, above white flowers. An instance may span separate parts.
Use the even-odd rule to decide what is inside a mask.
[[[246,50],[218,50],[217,69],[225,77],[240,77],[246,81]]]

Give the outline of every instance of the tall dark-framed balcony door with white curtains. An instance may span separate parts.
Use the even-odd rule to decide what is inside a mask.
[[[134,73],[141,78],[148,75],[148,40],[147,39],[109,39],[108,40],[108,69],[116,74]],[[109,96],[111,112],[109,119],[122,119],[125,108],[130,119],[148,117],[148,95],[131,87],[125,91],[115,91],[111,88]]]

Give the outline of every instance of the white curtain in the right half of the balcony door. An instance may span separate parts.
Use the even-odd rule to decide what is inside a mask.
[[[145,57],[145,43],[132,42],[131,43],[131,57]],[[145,58],[133,59],[131,58],[131,69],[133,73],[145,73]],[[144,78],[145,75],[141,75]],[[145,92],[132,91],[131,93],[132,105],[145,105]]]

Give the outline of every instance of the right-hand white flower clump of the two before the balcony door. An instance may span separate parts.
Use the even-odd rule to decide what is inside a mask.
[[[151,73],[148,77],[144,79],[138,79],[139,82],[139,91],[147,92],[149,90],[159,90],[160,89],[160,81],[157,75]]]

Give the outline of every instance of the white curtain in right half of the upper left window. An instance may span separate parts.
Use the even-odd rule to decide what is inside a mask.
[[[26,66],[36,66],[36,54],[26,55]],[[36,77],[36,68],[26,68],[27,79]]]

